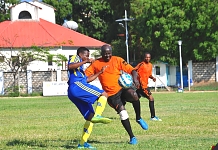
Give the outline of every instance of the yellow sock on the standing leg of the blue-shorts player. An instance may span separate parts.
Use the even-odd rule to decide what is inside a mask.
[[[88,141],[89,136],[92,133],[93,123],[91,121],[86,121],[83,128],[82,138],[80,140],[80,145],[83,145]]]

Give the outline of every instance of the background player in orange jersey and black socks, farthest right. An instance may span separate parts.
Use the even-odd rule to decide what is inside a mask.
[[[144,60],[135,67],[135,70],[138,72],[138,80],[140,82],[140,87],[136,90],[136,92],[139,97],[142,96],[149,100],[149,108],[151,113],[150,120],[162,121],[160,118],[155,116],[154,98],[148,87],[149,78],[156,82],[156,78],[152,76],[152,64],[150,63],[150,60],[151,54],[145,53]]]

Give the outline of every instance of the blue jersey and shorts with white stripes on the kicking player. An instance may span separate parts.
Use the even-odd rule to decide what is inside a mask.
[[[68,65],[81,61],[78,55],[74,55],[68,61]],[[76,105],[80,113],[87,120],[90,114],[95,113],[92,104],[96,102],[104,91],[87,83],[87,76],[84,73],[83,65],[76,69],[68,70],[68,76],[68,98]]]

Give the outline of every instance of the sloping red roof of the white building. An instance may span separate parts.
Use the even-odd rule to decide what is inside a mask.
[[[0,23],[0,47],[42,46],[101,47],[104,42],[74,30],[40,19],[4,21]]]

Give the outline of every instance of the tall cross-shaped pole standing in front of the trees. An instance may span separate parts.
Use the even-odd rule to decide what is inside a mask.
[[[125,10],[125,18],[117,19],[116,22],[125,21],[125,29],[126,29],[126,61],[129,63],[129,46],[128,46],[128,29],[127,29],[127,22],[132,21],[134,18],[127,18],[127,11]]]

